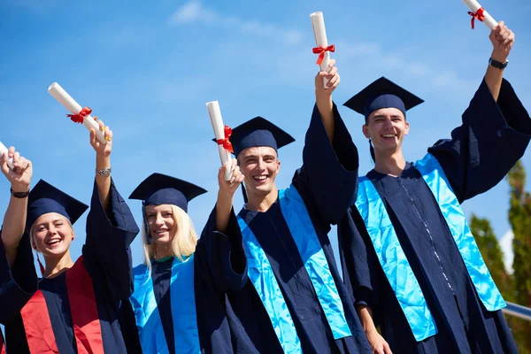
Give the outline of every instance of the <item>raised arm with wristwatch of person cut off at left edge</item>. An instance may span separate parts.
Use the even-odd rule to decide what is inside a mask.
[[[8,158],[12,158],[13,168],[7,164]],[[31,161],[21,157],[19,152],[11,147],[0,156],[0,168],[11,183],[11,198],[0,230],[0,323],[5,324],[20,312],[37,290],[37,273],[29,237],[25,235],[20,239],[26,227],[27,195],[33,175]],[[12,267],[15,265],[21,271],[18,274],[12,272]],[[0,331],[0,353],[5,353],[2,331]]]

